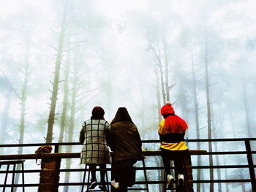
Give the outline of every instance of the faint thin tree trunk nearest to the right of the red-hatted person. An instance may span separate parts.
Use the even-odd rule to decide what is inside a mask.
[[[197,102],[197,85],[195,80],[195,62],[192,48],[190,47],[191,61],[192,61],[192,82],[193,82],[193,96],[194,96],[194,109],[195,109],[195,130],[197,132],[197,139],[200,139],[199,129],[199,112]],[[200,142],[197,142],[197,150],[200,150]],[[201,156],[197,155],[197,166],[201,166]],[[197,180],[201,179],[201,170],[197,169]],[[200,192],[200,183],[197,183],[197,192]]]

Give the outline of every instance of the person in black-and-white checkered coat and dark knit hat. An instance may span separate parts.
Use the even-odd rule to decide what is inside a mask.
[[[107,145],[109,123],[104,119],[105,112],[102,107],[94,107],[91,114],[91,119],[86,120],[80,130],[79,140],[83,144],[80,163],[89,164],[91,172],[89,189],[94,189],[97,186],[96,166],[99,165],[99,188],[105,190],[106,164],[110,164],[110,151]]]

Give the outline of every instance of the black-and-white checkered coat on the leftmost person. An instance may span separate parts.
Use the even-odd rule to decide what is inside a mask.
[[[80,130],[80,143],[83,143],[81,164],[110,164],[108,126],[109,123],[105,120],[86,120],[83,123]]]

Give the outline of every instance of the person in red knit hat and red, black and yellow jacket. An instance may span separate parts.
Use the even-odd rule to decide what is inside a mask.
[[[167,173],[168,188],[173,188],[174,177],[170,174],[170,160],[174,161],[177,175],[177,185],[184,185],[184,168],[181,159],[188,153],[188,147],[184,139],[187,123],[175,114],[170,102],[161,108],[164,117],[159,123],[160,150],[165,172]]]

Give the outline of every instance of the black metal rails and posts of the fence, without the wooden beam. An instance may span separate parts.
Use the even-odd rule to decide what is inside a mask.
[[[239,150],[239,151],[213,151],[213,152],[207,152],[205,154],[201,155],[246,155],[247,164],[244,165],[215,165],[215,166],[192,166],[192,169],[248,169],[249,170],[249,178],[246,179],[236,179],[236,180],[193,180],[193,183],[251,183],[252,185],[252,191],[256,191],[256,180],[255,180],[255,168],[256,165],[254,164],[256,154],[255,150],[252,150],[252,144],[251,142],[255,142],[256,138],[236,138],[236,139],[188,139],[188,143],[192,142],[244,142],[245,150]],[[143,140],[143,143],[159,143],[159,140]],[[33,144],[10,144],[10,145],[0,145],[0,147],[37,147],[41,145],[51,145],[54,148],[54,153],[59,153],[59,147],[64,145],[80,145],[78,142],[72,142],[72,143],[33,143]],[[254,146],[253,146],[254,147]],[[13,154],[16,158],[18,155]],[[159,154],[158,154],[159,155]],[[0,155],[0,161],[1,160],[7,160],[7,155]],[[149,155],[150,156],[150,155]],[[10,155],[9,155],[10,157]],[[25,157],[23,155],[23,157]],[[66,157],[67,158],[67,157]],[[70,156],[70,158],[74,158],[74,156]],[[77,157],[76,157],[77,158]],[[13,158],[12,158],[13,159]],[[23,158],[24,159],[24,158]],[[27,156],[27,159],[33,159],[31,156]],[[145,167],[137,167],[137,170],[161,170],[164,169],[162,166],[145,166]],[[172,168],[173,169],[173,168]],[[84,172],[85,169],[61,169],[60,172]],[[110,171],[110,169],[108,169]],[[12,173],[13,171],[9,171]],[[20,170],[16,172],[21,172]],[[39,173],[40,169],[33,169],[33,170],[24,170],[25,173]],[[6,174],[6,171],[0,170],[0,175]],[[135,184],[163,184],[162,180],[148,180],[148,181],[138,181]],[[25,183],[25,187],[36,187],[38,186],[38,183]],[[86,185],[86,183],[59,183],[59,186],[67,186],[67,185]],[[0,183],[0,187],[3,187],[4,185]],[[11,185],[6,185],[6,187],[10,187]],[[15,184],[16,187],[21,187],[20,184]],[[135,189],[132,189],[135,190]]]

